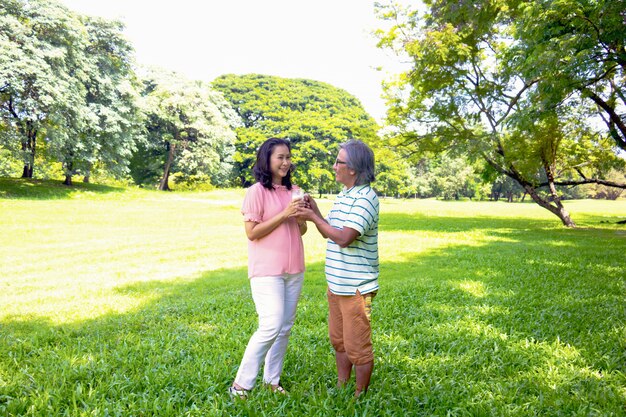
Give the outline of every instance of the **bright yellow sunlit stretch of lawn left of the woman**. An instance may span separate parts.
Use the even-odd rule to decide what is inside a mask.
[[[79,199],[10,202],[14,214],[3,219],[3,230],[11,244],[0,248],[6,289],[0,304],[10,307],[0,319],[41,316],[59,324],[123,313],[153,296],[111,292],[120,285],[247,265],[240,214],[231,206],[242,192],[221,194],[228,204],[154,193],[137,200],[94,201],[80,193]],[[9,209],[8,201],[0,204]]]

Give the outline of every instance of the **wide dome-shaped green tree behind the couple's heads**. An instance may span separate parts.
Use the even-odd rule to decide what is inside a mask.
[[[354,96],[329,84],[276,76],[224,75],[213,81],[241,116],[235,154],[239,179],[253,182],[258,146],[269,137],[291,141],[294,177],[308,191],[335,189],[337,145],[349,139],[377,141],[377,125]]]

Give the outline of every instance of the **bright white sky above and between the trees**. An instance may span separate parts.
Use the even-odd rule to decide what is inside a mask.
[[[326,82],[357,97],[381,122],[381,82],[401,71],[376,48],[382,27],[369,0],[61,0],[124,22],[140,65],[191,79],[265,74]],[[377,71],[376,68],[382,68]]]

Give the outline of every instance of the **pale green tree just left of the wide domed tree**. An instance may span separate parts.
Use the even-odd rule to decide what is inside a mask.
[[[147,143],[135,158],[144,162],[134,166],[134,177],[150,178],[145,170],[158,167],[159,190],[170,189],[172,173],[183,181],[226,185],[240,119],[222,94],[201,81],[157,69],[149,70],[143,83]]]

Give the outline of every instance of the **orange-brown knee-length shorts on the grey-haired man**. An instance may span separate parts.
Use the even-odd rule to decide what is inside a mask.
[[[346,352],[354,365],[365,365],[374,360],[371,301],[376,293],[328,296],[328,335],[337,352]]]

